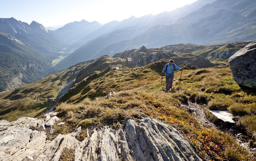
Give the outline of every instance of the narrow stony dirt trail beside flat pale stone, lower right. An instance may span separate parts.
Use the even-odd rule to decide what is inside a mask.
[[[245,149],[247,149],[248,152],[250,152],[251,155],[256,160],[256,148],[250,147],[250,138],[248,138],[247,134],[245,134],[243,129],[236,127],[235,124],[225,124],[220,120],[215,121],[215,123],[213,123],[207,118],[207,115],[205,114],[205,110],[207,108],[205,104],[200,105],[189,102],[188,105],[182,105],[182,108],[186,109],[188,113],[190,113],[196,119],[198,119],[198,121],[203,127],[218,129],[230,136],[233,136],[233,138],[237,140],[237,143],[242,145]]]

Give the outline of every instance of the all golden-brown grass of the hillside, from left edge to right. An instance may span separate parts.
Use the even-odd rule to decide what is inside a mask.
[[[115,69],[110,67],[111,64],[119,64],[122,60],[113,58],[107,60],[109,64],[106,65],[108,68],[105,70],[102,68],[92,72],[87,68],[90,64],[80,64],[79,67],[71,67],[68,71],[51,75],[12,93],[0,93],[1,104],[5,104],[4,109],[10,109],[13,106],[11,113],[4,114],[1,111],[1,120],[15,120],[29,115],[27,114],[29,110],[39,114],[40,110],[46,108],[47,99],[56,98],[56,91],[60,86],[67,79],[71,79],[70,76],[77,76],[76,71],[83,68],[75,85],[61,99],[63,103],[56,107],[60,121],[66,124],[56,126],[54,134],[49,135],[49,139],[53,139],[58,134],[68,134],[74,131],[77,125],[81,125],[82,131],[77,138],[82,140],[87,135],[87,128],[102,125],[122,128],[128,118],[139,121],[139,118],[147,115],[177,128],[203,158],[250,159],[246,150],[237,145],[229,135],[215,129],[201,127],[195,118],[181,108],[181,103],[187,103],[190,100],[198,104],[207,104],[209,108],[228,109],[239,116],[238,125],[251,136],[253,144],[256,136],[255,92],[238,86],[231,76],[229,67],[185,70],[182,73],[183,83],[179,85],[179,81],[174,82],[173,93],[164,93],[162,91],[164,83],[161,83],[161,69],[164,66],[162,61],[146,67]],[[71,75],[72,72],[75,72],[75,75]],[[180,72],[176,72],[175,79],[179,80],[179,76]],[[105,99],[110,91],[116,92],[116,95]],[[41,100],[35,100],[36,95],[43,99],[41,104],[36,104],[36,100]],[[22,103],[30,104],[22,106],[23,108],[18,106],[20,108],[14,110],[13,104]],[[36,106],[30,109],[32,104]],[[20,114],[24,111],[26,114]],[[30,116],[34,115],[36,114]]]

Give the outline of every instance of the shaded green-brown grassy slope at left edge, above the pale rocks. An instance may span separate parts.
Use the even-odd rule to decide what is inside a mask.
[[[46,76],[40,81],[0,93],[0,120],[14,121],[19,117],[36,117],[56,104],[58,95],[68,82],[89,62],[77,64],[66,71]]]

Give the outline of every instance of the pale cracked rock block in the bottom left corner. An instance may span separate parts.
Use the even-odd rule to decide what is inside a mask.
[[[43,131],[11,126],[0,132],[0,156],[4,160],[31,159],[41,152],[45,142],[46,134]]]

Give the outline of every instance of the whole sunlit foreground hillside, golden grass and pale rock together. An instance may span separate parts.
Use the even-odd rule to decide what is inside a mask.
[[[151,60],[159,51],[164,55],[171,54],[162,49],[144,47],[138,52],[133,51],[119,54],[132,55],[144,51],[146,60]],[[147,53],[149,51],[151,54]],[[207,117],[212,120],[216,118],[209,114],[210,109],[229,110],[236,115],[233,127],[244,131],[244,137],[253,138],[254,129],[247,122],[254,119],[255,92],[238,86],[229,67],[184,67],[182,79],[179,80],[181,72],[175,72],[174,88],[171,93],[165,93],[162,90],[164,83],[161,82],[161,71],[167,60],[169,58],[143,67],[127,68],[130,64],[126,59],[105,55],[16,90],[1,92],[0,117],[1,120],[9,121],[1,121],[1,155],[10,160],[15,156],[38,160],[41,157],[46,160],[95,160],[107,156],[135,160],[141,155],[152,157],[153,160],[171,159],[169,156],[181,160],[252,160],[254,156],[248,152],[250,149],[244,149],[229,132],[200,125],[184,105],[189,102],[202,104],[199,106],[201,111],[206,111]],[[191,61],[193,63],[198,64]],[[239,112],[240,106],[247,109],[246,115],[243,115],[245,111]],[[55,116],[40,115],[46,110],[54,110]],[[17,118],[19,119],[15,121]],[[36,123],[30,126],[24,120]],[[20,128],[20,125],[27,127]],[[26,131],[26,139],[19,146],[23,149],[16,148],[13,144],[20,141],[20,137],[13,137],[8,133],[16,129]],[[15,136],[20,136],[19,131]],[[190,150],[184,150],[175,143],[177,140],[171,140],[173,137],[169,135],[172,131],[175,131],[176,136],[182,135],[178,145],[189,142],[189,145],[184,145]],[[6,137],[10,138],[8,142],[4,139]],[[40,141],[36,138],[40,138]],[[119,142],[115,143],[118,138]],[[165,139],[165,144],[159,138]],[[32,150],[30,147],[37,145],[37,142],[41,142],[39,149]],[[252,139],[251,144],[248,143],[251,149],[254,142]],[[13,155],[9,155],[9,152]],[[193,158],[191,155],[186,157],[186,152],[196,155]]]

